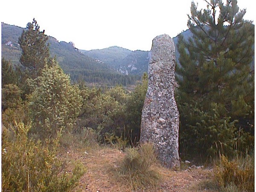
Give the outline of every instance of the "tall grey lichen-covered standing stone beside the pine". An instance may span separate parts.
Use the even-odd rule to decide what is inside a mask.
[[[164,166],[180,167],[179,111],[174,98],[175,46],[169,35],[153,40],[140,142],[154,143]]]

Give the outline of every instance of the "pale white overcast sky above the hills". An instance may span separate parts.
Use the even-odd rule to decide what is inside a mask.
[[[203,0],[195,2],[206,8]],[[191,0],[1,0],[0,18],[25,28],[35,17],[45,34],[78,49],[148,51],[157,35],[173,38],[187,29],[190,6]],[[247,9],[245,19],[255,20],[255,0],[238,0],[238,6]]]

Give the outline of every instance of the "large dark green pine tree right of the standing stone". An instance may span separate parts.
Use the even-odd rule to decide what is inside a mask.
[[[236,0],[205,1],[204,10],[191,4],[192,38],[180,36],[176,66],[181,139],[200,136],[198,151],[227,144],[236,139],[235,127],[248,131],[254,122],[254,25],[243,19],[246,10],[239,11]],[[225,136],[224,128],[233,131]]]

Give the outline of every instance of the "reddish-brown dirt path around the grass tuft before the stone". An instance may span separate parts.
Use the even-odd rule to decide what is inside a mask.
[[[114,169],[122,160],[124,153],[113,148],[100,148],[90,151],[67,151],[66,158],[81,160],[86,167],[86,173],[81,177],[79,185],[73,192],[131,192],[127,183],[122,183],[114,177]],[[209,169],[187,169],[173,171],[158,167],[163,181],[154,191],[157,192],[193,192],[200,191],[196,187],[200,182],[209,179],[212,171]],[[203,189],[201,191],[208,191]]]

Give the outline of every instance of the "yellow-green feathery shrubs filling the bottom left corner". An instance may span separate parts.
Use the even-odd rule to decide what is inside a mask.
[[[27,137],[29,128],[19,123],[2,134],[2,191],[69,190],[84,174],[84,166],[76,162],[72,173],[66,172],[56,157],[58,140],[42,145]]]

